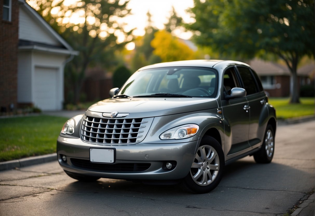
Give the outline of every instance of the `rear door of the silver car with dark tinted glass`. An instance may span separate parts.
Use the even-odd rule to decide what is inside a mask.
[[[255,146],[261,142],[262,133],[265,131],[264,122],[260,121],[265,119],[262,118],[262,113],[266,107],[267,97],[255,71],[246,66],[237,66],[237,69],[242,78],[249,105],[249,145]]]

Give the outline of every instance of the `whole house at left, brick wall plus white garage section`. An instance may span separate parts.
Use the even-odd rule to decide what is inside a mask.
[[[1,2],[3,11],[5,3],[9,5],[9,13],[1,17],[0,32],[2,111],[16,106],[61,110],[64,66],[78,52],[24,0]]]

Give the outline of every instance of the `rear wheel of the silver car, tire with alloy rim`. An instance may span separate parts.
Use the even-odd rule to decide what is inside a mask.
[[[267,125],[261,149],[254,154],[257,163],[270,163],[273,158],[275,147],[275,134],[270,124]]]

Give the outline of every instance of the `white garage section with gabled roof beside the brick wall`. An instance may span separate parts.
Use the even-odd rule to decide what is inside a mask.
[[[17,102],[43,111],[61,110],[64,67],[74,51],[26,2],[19,10]]]

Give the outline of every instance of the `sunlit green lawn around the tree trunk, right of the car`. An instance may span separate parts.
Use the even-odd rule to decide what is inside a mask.
[[[290,104],[289,98],[269,98],[276,108],[278,120],[314,115],[314,98],[300,98],[300,104]]]

